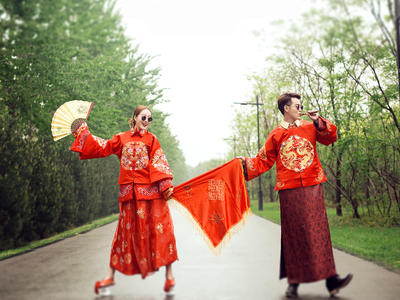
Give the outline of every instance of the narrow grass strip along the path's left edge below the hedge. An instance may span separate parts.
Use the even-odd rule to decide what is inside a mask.
[[[105,224],[114,222],[117,219],[118,219],[118,214],[113,214],[113,215],[110,215],[110,216],[107,216],[107,217],[104,217],[104,218],[101,218],[101,219],[94,220],[91,223],[76,227],[74,229],[61,232],[61,233],[56,234],[56,235],[54,235],[52,237],[49,237],[49,238],[46,238],[46,239],[43,239],[43,240],[33,241],[33,242],[31,242],[31,243],[29,243],[29,244],[27,244],[27,245],[25,245],[23,247],[20,247],[20,248],[4,250],[4,251],[0,252],[0,260],[9,258],[11,256],[19,255],[19,254],[22,254],[22,253],[25,253],[25,252],[28,252],[28,251],[32,251],[32,250],[34,250],[36,248],[43,247],[43,246],[58,242],[60,240],[66,239],[68,237],[75,236],[77,234],[85,233],[85,232],[87,232],[89,230],[92,230],[94,228],[97,228],[97,227],[103,226]]]

